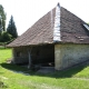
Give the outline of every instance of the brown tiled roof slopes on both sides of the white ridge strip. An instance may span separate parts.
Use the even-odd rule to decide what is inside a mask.
[[[20,47],[30,44],[55,43],[53,27],[55,27],[56,8],[39,19],[31,28],[8,47]],[[65,8],[60,8],[60,36],[62,43],[89,43],[89,32],[83,27],[85,21],[71,13]]]

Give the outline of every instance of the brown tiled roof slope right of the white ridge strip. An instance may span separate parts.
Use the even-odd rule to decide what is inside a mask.
[[[85,21],[61,8],[60,29],[62,42],[89,43],[89,31],[83,27]]]

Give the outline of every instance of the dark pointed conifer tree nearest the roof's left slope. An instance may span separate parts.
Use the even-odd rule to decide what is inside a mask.
[[[13,21],[13,17],[11,16],[8,28],[7,28],[7,32],[10,33],[12,36],[12,38],[17,38],[18,37],[18,32],[17,32],[17,28]]]

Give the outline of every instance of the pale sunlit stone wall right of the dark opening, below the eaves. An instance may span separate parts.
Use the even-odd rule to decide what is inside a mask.
[[[55,65],[56,69],[71,67],[89,59],[89,44],[56,44]]]

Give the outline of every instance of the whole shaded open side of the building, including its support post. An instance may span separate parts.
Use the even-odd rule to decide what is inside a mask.
[[[55,44],[13,48],[13,62],[18,65],[55,65]]]

